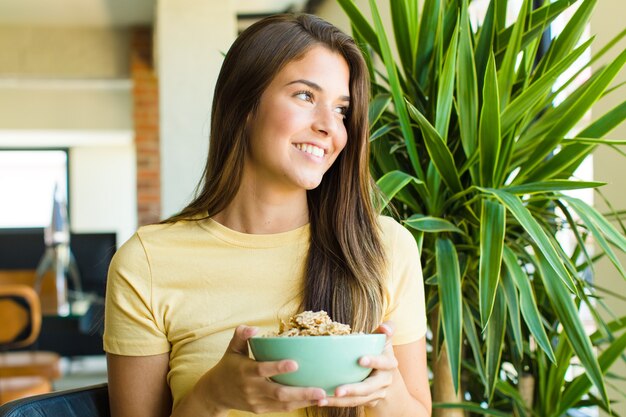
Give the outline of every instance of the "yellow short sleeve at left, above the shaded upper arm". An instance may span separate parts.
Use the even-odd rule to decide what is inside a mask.
[[[147,356],[170,350],[152,309],[148,257],[135,234],[115,253],[109,267],[104,315],[104,350]]]

